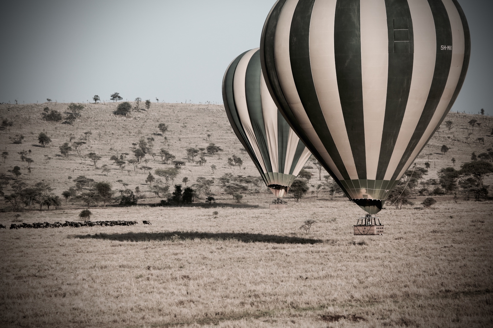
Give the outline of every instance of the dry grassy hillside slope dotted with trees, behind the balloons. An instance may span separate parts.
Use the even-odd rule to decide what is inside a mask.
[[[187,177],[190,180],[188,183],[190,185],[198,177],[217,179],[227,172],[234,175],[258,176],[248,155],[242,151],[242,145],[233,133],[222,105],[152,103],[148,111],[133,111],[129,116],[124,117],[113,115],[117,106],[116,103],[84,103],[82,105],[85,108],[73,125],[62,124],[62,121],[53,122],[42,119],[43,108],[49,107],[50,110],[63,113],[67,111],[68,105],[65,103],[1,104],[0,120],[10,121],[12,126],[7,125],[4,126],[3,130],[0,130],[1,151],[9,153],[5,163],[3,160],[0,163],[0,173],[8,174],[8,170],[12,170],[14,166],[20,166],[21,179],[27,183],[41,180],[49,182],[58,195],[73,186],[72,179],[78,176],[86,176],[95,181],[108,181],[112,183],[113,188],[121,188],[121,185],[116,182],[121,179],[124,183],[129,184],[128,188],[130,189],[140,187],[146,196],[146,200],[141,200],[141,202],[157,202],[160,198],[156,198],[148,190],[148,184],[145,183],[146,173],[139,169],[134,172],[134,168],[130,164],[126,165],[122,173],[109,159],[112,155],[122,153],[129,153],[125,156],[127,160],[134,158],[131,150],[135,146],[132,144],[138,143],[142,137],[144,139],[152,137],[154,138],[154,152],[164,148],[174,154],[177,160],[185,162],[187,162],[185,149],[190,147],[205,148],[209,143],[215,143],[224,150],[218,156],[206,157],[207,163],[203,166],[187,162],[175,179],[175,183],[181,183],[181,180]],[[141,107],[143,106],[141,105]],[[473,130],[467,123],[470,119],[477,119],[481,125],[475,124]],[[455,166],[458,168],[462,163],[470,161],[473,151],[479,154],[492,147],[493,138],[490,132],[493,124],[491,117],[451,113],[447,120],[453,122],[450,131],[443,123],[417,159],[420,166],[423,166],[424,162],[431,164],[426,178],[436,178],[436,172],[440,168],[452,166],[452,158],[457,160]],[[160,133],[157,128],[158,123],[169,125],[164,136],[156,135]],[[37,140],[39,133],[43,131],[51,138],[51,143],[44,148],[39,145]],[[88,131],[92,134],[85,138],[84,132]],[[22,144],[13,144],[12,140],[9,139],[15,138],[16,134],[24,136]],[[75,151],[71,152],[69,158],[61,156],[59,146],[69,142],[70,138],[72,138],[70,144],[74,141],[86,142],[82,146],[82,154],[95,152],[102,156],[97,166],[101,168],[106,164],[110,168],[110,172],[104,173],[101,169],[95,168],[89,159],[86,158],[84,161],[77,156]],[[477,138],[484,138],[484,144]],[[446,154],[441,153],[442,145],[450,148]],[[34,160],[31,164],[31,173],[28,171],[28,163],[21,161],[18,154],[23,150],[31,150],[31,153],[26,155]],[[244,165],[242,168],[230,168],[227,165],[227,158],[233,154],[243,158]],[[51,159],[47,160],[47,158]],[[157,168],[172,166],[171,164],[163,164],[159,156],[152,158],[147,155],[145,159],[149,160],[148,163],[142,162],[139,166],[152,167],[153,171]],[[211,165],[217,167],[214,173],[211,171]],[[128,173],[126,170],[131,170],[131,172]],[[314,180],[318,178],[318,172],[315,169],[309,169],[309,171],[315,174],[311,183],[316,183]],[[322,176],[323,174],[322,172]],[[264,194],[263,196],[260,195],[260,202],[267,202],[272,198],[266,188],[261,190]],[[8,193],[10,190],[7,188],[4,191]],[[217,183],[212,186],[212,192],[216,194],[216,199],[231,201],[229,195],[221,194],[222,189],[218,187]],[[248,202],[249,197],[252,196],[247,196],[244,201]],[[258,198],[258,195],[254,198]],[[77,204],[74,205],[77,206]]]

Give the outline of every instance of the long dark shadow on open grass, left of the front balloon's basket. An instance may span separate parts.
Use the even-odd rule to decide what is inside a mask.
[[[190,239],[211,239],[211,240],[238,240],[242,242],[269,242],[275,244],[315,244],[323,242],[321,239],[309,239],[300,237],[288,237],[264,234],[249,233],[209,233],[198,231],[171,231],[171,232],[129,232],[123,234],[88,234],[71,235],[68,238],[78,239],[105,239],[115,241],[180,241]]]

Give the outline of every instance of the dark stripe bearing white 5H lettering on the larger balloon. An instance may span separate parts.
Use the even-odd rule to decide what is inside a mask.
[[[411,156],[411,153],[418,145],[418,142],[423,137],[423,133],[428,127],[433,114],[435,113],[436,107],[440,102],[443,90],[447,84],[447,79],[449,77],[450,65],[452,63],[452,50],[441,50],[441,45],[452,45],[452,28],[450,27],[449,15],[447,14],[447,9],[443,5],[441,0],[428,0],[428,4],[431,8],[431,13],[433,14],[433,20],[435,22],[436,30],[436,60],[435,60],[435,70],[433,72],[433,80],[431,82],[431,88],[428,93],[428,98],[426,104],[423,108],[423,113],[421,114],[418,125],[414,130],[411,141],[409,142],[404,154],[401,157],[397,169],[392,175],[392,180],[396,180],[400,171],[404,168],[407,160]]]

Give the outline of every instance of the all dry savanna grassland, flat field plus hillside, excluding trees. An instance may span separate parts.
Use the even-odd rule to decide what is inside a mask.
[[[123,171],[109,160],[114,149],[131,152],[142,137],[153,136],[156,149],[164,147],[176,157],[187,147],[211,142],[223,148],[222,157],[207,157],[207,165],[186,163],[176,181],[217,179],[228,172],[256,175],[222,106],[153,103],[148,111],[123,118],[111,114],[115,104],[84,104],[73,125],[39,119],[44,106],[62,111],[67,105],[0,105],[1,118],[14,122],[0,131],[1,150],[10,154],[1,163],[2,173],[20,165],[18,179],[44,179],[56,194],[70,186],[68,176],[114,186],[124,179],[147,196],[137,206],[93,205],[91,220],[139,224],[2,229],[0,326],[493,327],[491,200],[443,195],[423,208],[425,196],[415,195],[414,205],[387,206],[378,214],[385,225],[382,236],[354,236],[352,226],[364,213],[342,195],[333,199],[325,192],[308,193],[299,203],[288,197],[287,209],[272,210],[273,197],[263,188],[245,192],[235,204],[216,183],[211,189],[215,205],[202,199],[187,207],[153,207],[161,198],[147,190],[147,172]],[[470,116],[450,118],[454,128],[443,128],[417,159],[431,163],[429,177],[451,164],[451,157],[460,165],[471,151],[491,146],[483,127],[473,132],[483,142],[468,143]],[[169,124],[166,140],[156,134],[160,121]],[[35,147],[43,129],[51,144]],[[55,155],[71,133],[82,138],[86,131],[92,137],[85,140],[85,151],[102,155],[97,164],[107,163],[109,172],[75,155]],[[23,144],[9,142],[21,132]],[[469,138],[460,141],[462,135]],[[449,152],[439,153],[445,143]],[[28,148],[34,159],[29,172],[14,156]],[[242,168],[226,164],[232,154],[242,156]],[[153,169],[169,166],[147,158],[146,166]],[[217,169],[211,171],[210,164]],[[307,170],[314,174],[311,183],[317,183],[319,172]],[[26,209],[17,217],[8,204],[2,206],[0,223],[7,228],[19,218],[79,221],[85,207],[68,199],[60,209]],[[317,221],[309,232],[300,229],[307,219]]]

